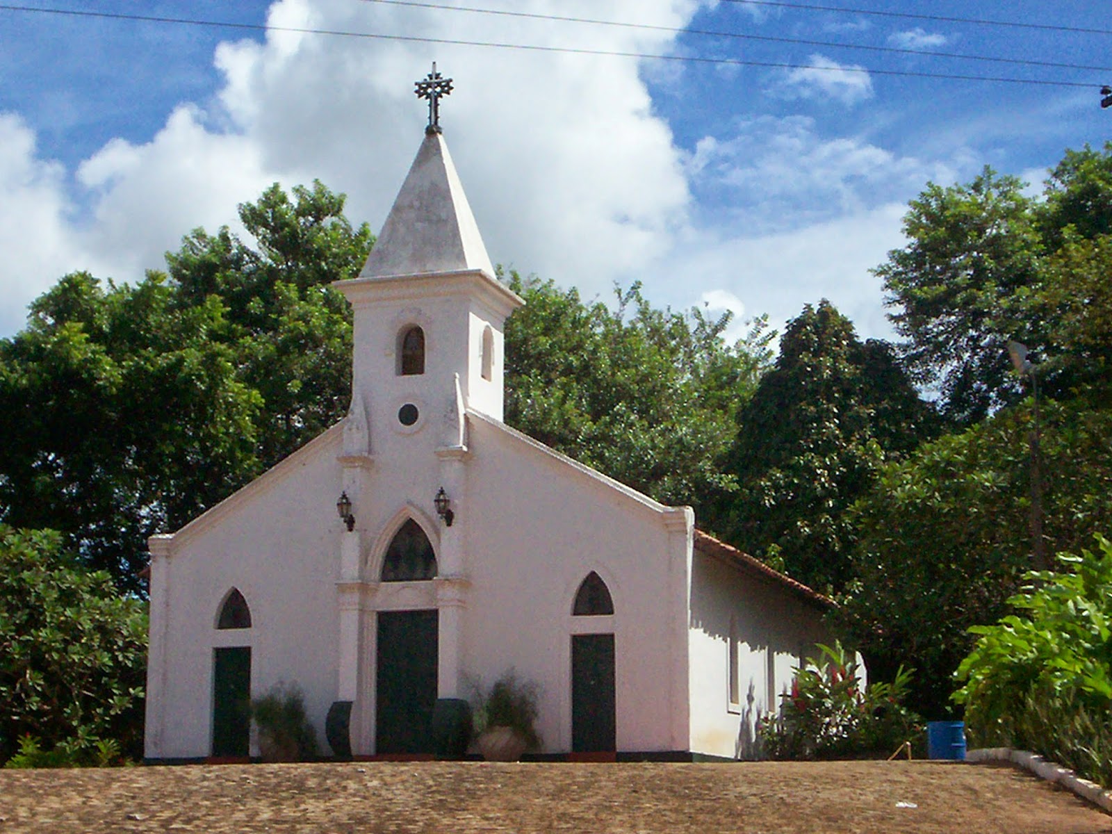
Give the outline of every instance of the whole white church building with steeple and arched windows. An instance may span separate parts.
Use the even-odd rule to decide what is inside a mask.
[[[537,686],[542,755],[751,757],[831,603],[503,423],[523,301],[430,109],[366,265],[336,284],[347,417],[149,542],[146,757],[257,756],[245,704],[278,683],[326,754],[420,756],[438,698],[508,669]]]

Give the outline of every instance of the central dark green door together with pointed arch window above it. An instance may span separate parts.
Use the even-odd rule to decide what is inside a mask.
[[[386,550],[380,580],[429,582],[436,567],[433,544],[410,518]],[[379,610],[377,625],[375,753],[429,754],[439,671],[439,612]]]

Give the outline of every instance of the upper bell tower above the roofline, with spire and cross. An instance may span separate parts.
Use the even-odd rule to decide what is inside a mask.
[[[359,276],[335,285],[355,310],[350,423],[366,433],[363,454],[381,433],[457,406],[503,418],[503,324],[524,302],[494,276],[434,107],[450,79],[433,76],[435,64],[418,82],[419,96],[434,85],[429,125],[386,224]]]

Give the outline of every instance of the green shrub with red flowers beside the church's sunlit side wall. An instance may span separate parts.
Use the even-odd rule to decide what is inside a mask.
[[[862,689],[855,659],[835,643],[795,672],[776,716],[757,726],[768,758],[886,757],[922,737],[919,716],[903,706],[912,671]]]

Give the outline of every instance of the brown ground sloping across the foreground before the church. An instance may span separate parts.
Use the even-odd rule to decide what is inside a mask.
[[[1009,766],[344,763],[0,771],[0,834],[34,832],[1112,834]]]

